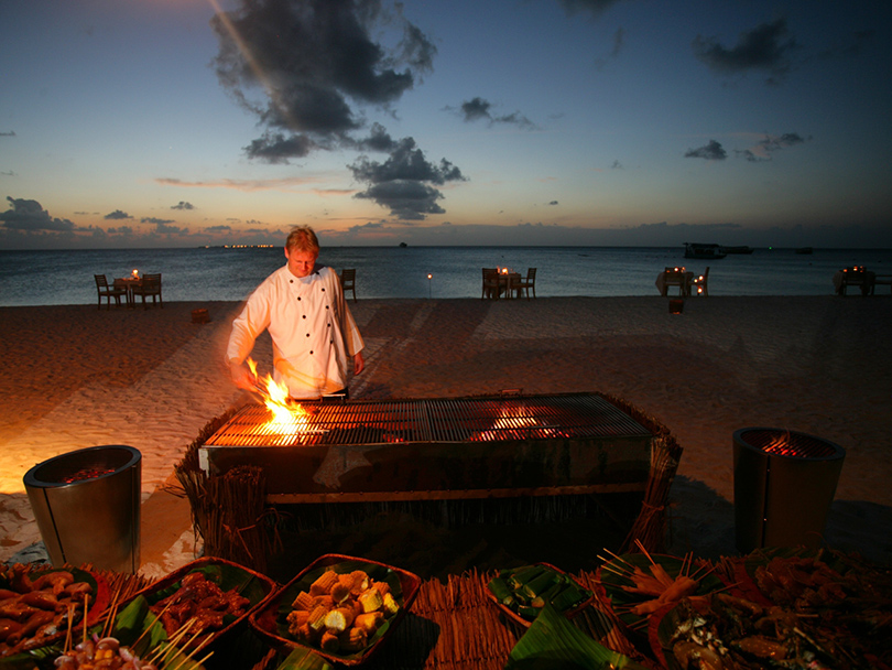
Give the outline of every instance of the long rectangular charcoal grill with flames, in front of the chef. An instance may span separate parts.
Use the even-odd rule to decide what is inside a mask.
[[[653,435],[597,395],[302,403],[239,410],[199,449],[211,475],[263,469],[280,502],[490,498],[644,489]]]

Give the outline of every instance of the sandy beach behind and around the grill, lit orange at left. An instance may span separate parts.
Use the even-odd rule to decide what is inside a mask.
[[[211,321],[192,323],[208,310]],[[22,477],[75,449],[142,453],[142,570],[192,560],[174,465],[213,418],[249,399],[222,354],[237,303],[0,309],[0,560],[40,540]],[[600,391],[656,418],[684,447],[671,549],[733,555],[732,434],[782,428],[841,445],[825,539],[892,564],[892,299],[695,298],[682,314],[642,298],[360,300],[367,369],[352,398],[442,398],[522,389]],[[269,369],[261,339],[255,359]]]

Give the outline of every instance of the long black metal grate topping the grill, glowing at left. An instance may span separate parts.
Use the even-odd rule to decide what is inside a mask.
[[[276,424],[270,422],[265,407],[246,406],[206,445],[502,442],[650,434],[594,395],[313,401],[302,407],[305,417]]]

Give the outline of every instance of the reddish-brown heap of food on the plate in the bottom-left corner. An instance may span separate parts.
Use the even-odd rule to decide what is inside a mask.
[[[96,594],[81,574],[0,566],[0,658],[43,647],[83,620]]]

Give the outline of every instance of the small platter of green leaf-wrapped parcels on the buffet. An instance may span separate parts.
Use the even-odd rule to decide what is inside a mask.
[[[487,596],[507,617],[526,627],[536,619],[545,603],[572,618],[595,599],[591,591],[548,563],[499,571],[487,584]]]

